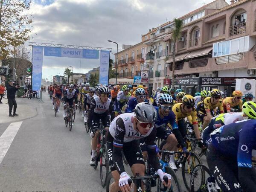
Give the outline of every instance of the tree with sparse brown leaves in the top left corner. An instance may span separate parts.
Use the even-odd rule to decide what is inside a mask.
[[[13,48],[29,40],[32,15],[26,14],[30,0],[0,0],[0,60],[9,58]]]

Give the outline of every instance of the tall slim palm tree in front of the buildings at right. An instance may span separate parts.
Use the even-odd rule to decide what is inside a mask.
[[[175,78],[175,56],[176,56],[176,42],[178,38],[181,35],[181,28],[183,25],[183,20],[182,19],[177,19],[174,18],[174,30],[172,32],[172,41],[174,42],[173,44],[173,49],[172,49],[172,88],[174,88],[174,78]]]

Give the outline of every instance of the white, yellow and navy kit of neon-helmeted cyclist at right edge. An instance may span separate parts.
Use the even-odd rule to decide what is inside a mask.
[[[209,126],[202,132],[202,139],[206,146],[209,146],[212,139],[210,133],[223,125],[228,125],[233,122],[243,120],[244,113],[221,113],[218,116],[212,117]]]

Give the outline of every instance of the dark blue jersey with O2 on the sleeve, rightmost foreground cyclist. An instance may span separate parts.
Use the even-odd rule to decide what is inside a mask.
[[[256,119],[221,126],[210,136],[212,145],[223,156],[237,158],[239,167],[252,168],[252,151],[256,150]]]

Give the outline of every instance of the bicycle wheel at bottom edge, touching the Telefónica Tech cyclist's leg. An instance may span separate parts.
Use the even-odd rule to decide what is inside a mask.
[[[201,191],[208,192],[207,178],[212,177],[210,170],[203,164],[198,164],[191,173],[190,188],[191,192]]]

